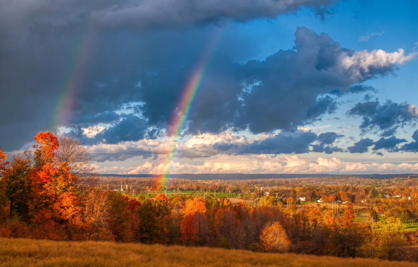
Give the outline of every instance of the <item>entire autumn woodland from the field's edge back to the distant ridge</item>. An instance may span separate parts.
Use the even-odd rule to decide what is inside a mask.
[[[155,178],[99,177],[76,139],[40,132],[35,141],[10,158],[0,150],[0,236],[418,260],[418,232],[405,231],[418,214],[413,177],[173,179],[161,187]],[[130,189],[114,189],[122,183]],[[181,190],[196,194],[169,194]]]

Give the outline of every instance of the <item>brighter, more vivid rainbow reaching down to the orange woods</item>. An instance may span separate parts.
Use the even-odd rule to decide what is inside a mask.
[[[198,67],[196,67],[196,69],[192,72],[189,82],[187,82],[183,94],[181,95],[180,101],[178,105],[176,105],[177,108],[171,120],[170,128],[168,129],[168,136],[173,137],[173,146],[166,156],[166,162],[164,164],[165,170],[164,173],[159,176],[160,181],[158,182],[163,188],[167,186],[170,178],[171,165],[173,164],[173,157],[175,156],[177,150],[178,140],[181,138],[181,132],[184,129],[193,101],[203,81],[204,72],[209,63],[209,59],[219,42],[220,37],[221,31],[217,31],[214,38],[212,38],[209,43],[205,53],[201,57]]]

